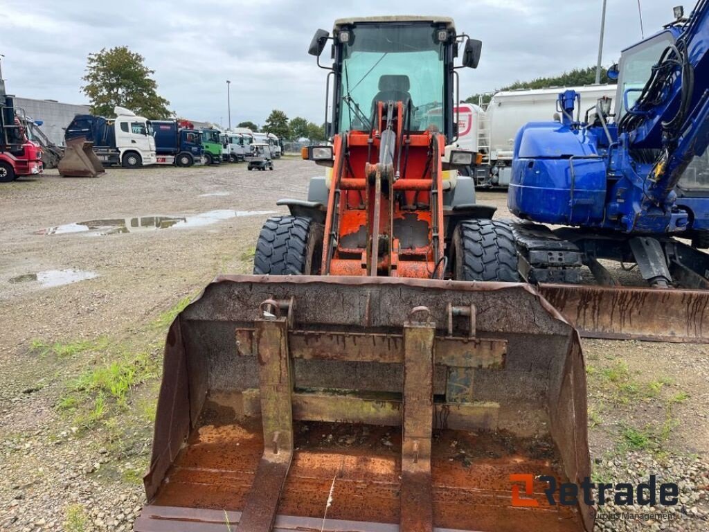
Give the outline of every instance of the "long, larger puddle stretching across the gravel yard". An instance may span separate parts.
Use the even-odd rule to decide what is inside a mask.
[[[63,226],[54,226],[37,231],[38,235],[66,235],[70,233],[84,233],[87,236],[117,235],[121,233],[140,233],[154,231],[155,229],[193,228],[210,226],[230,218],[241,216],[265,216],[274,214],[274,211],[233,211],[223,209],[208,211],[192,216],[136,216],[133,218],[106,218],[102,220],[89,220],[77,223],[67,223]]]

